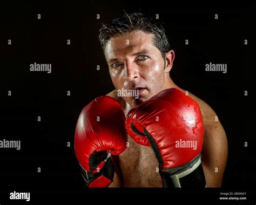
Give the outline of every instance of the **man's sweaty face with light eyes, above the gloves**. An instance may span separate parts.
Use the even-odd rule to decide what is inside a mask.
[[[105,47],[110,76],[117,91],[138,90],[137,97],[122,96],[132,107],[164,89],[164,59],[153,45],[153,37],[143,31],[133,31],[111,38]]]

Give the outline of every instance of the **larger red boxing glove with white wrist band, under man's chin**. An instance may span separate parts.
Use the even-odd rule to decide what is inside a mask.
[[[192,98],[177,88],[161,91],[130,110],[126,130],[138,144],[152,146],[164,187],[205,187],[203,118]]]

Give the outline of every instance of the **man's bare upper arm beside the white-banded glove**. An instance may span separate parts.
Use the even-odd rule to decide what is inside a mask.
[[[204,119],[202,164],[207,187],[221,187],[227,161],[227,138],[217,114],[205,104],[201,108]]]

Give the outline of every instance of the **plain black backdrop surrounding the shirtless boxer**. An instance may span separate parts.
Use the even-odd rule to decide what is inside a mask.
[[[176,53],[171,78],[218,114],[228,139],[221,189],[85,189],[73,150],[76,121],[87,103],[114,89],[98,35],[102,23],[119,17],[123,9],[153,17],[159,14]],[[0,140],[21,140],[21,150],[0,149],[0,203],[11,202],[9,193],[14,190],[31,192],[31,202],[106,199],[93,193],[112,195],[111,200],[107,197],[109,202],[114,202],[115,194],[129,193],[164,193],[154,198],[158,201],[185,194],[189,197],[179,197],[181,201],[218,202],[221,190],[244,190],[247,202],[255,202],[255,9],[255,4],[170,1],[2,5]],[[214,19],[215,13],[219,19]],[[66,44],[68,39],[71,45]],[[30,72],[34,62],[51,63],[52,73]],[[205,72],[210,62],[227,64],[227,73]],[[174,197],[173,201],[179,200]]]

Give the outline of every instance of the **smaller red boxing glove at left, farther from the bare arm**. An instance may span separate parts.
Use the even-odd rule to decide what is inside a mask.
[[[125,115],[117,100],[101,96],[86,105],[77,121],[75,154],[87,187],[107,187],[113,181],[110,155],[126,149]]]

